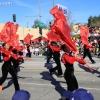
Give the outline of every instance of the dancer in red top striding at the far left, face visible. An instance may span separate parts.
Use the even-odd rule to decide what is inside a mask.
[[[11,57],[13,57],[14,59],[19,59],[20,57],[17,56],[16,54],[13,54],[12,51],[9,50],[9,48],[10,48],[9,44],[4,43],[3,48],[1,50],[3,54],[4,63],[2,65],[2,78],[0,79],[0,91],[2,91],[2,84],[5,82],[8,72],[11,74],[13,78],[15,91],[20,90],[15,69],[11,65]]]

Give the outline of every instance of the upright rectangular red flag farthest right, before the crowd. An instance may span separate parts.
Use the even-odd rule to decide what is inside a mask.
[[[86,26],[80,26],[81,41],[85,45],[88,45],[88,34],[89,28]]]

